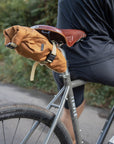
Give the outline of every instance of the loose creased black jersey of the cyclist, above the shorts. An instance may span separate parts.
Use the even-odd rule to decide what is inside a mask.
[[[59,0],[57,27],[87,34],[65,47],[72,69],[114,58],[114,0]]]

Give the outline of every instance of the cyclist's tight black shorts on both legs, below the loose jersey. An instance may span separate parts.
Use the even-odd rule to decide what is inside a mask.
[[[88,82],[114,86],[114,58],[86,67],[75,67],[75,71],[70,70],[70,74],[72,80],[82,79]],[[59,75],[60,74],[54,72],[54,78],[57,82],[58,89],[63,86],[63,80]],[[84,86],[74,88],[73,92],[76,107],[78,107],[84,100]],[[65,102],[65,108],[68,109],[67,101]]]

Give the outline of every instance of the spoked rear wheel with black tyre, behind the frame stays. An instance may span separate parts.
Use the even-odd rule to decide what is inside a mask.
[[[35,122],[38,127],[26,142],[43,144],[54,119],[54,114],[44,108],[25,104],[0,107],[0,143],[22,144],[22,141]],[[49,144],[72,144],[70,136],[59,121]]]

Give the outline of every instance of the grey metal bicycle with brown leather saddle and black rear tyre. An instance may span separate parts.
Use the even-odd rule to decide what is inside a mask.
[[[66,39],[63,37],[61,33],[58,32],[57,28],[50,27],[50,26],[43,26],[43,25],[37,25],[33,26],[32,28],[36,29],[43,35],[45,35],[49,40],[54,39],[62,51],[63,55],[65,56],[65,52],[63,49],[61,49],[61,43],[66,43]],[[72,32],[67,31],[68,36],[72,36]],[[52,38],[51,38],[52,37]],[[67,39],[68,40],[68,39]],[[76,39],[73,41],[77,41]],[[66,57],[66,56],[65,56]],[[4,144],[6,144],[6,136],[11,133],[11,129],[9,129],[7,126],[15,127],[13,131],[11,141],[8,141],[8,144],[26,144],[29,142],[30,144],[33,144],[33,140],[35,144],[51,144],[51,143],[57,143],[57,144],[72,144],[72,140],[69,136],[69,133],[67,132],[64,125],[59,120],[60,114],[62,112],[62,109],[64,107],[64,103],[66,99],[68,99],[69,108],[71,111],[71,117],[72,117],[72,123],[75,133],[75,138],[77,144],[82,144],[82,138],[80,135],[80,129],[78,124],[78,118],[77,118],[77,112],[76,112],[76,106],[74,103],[74,96],[72,88],[78,87],[81,85],[86,84],[83,80],[74,80],[71,81],[70,79],[70,73],[68,69],[65,73],[61,74],[61,77],[64,80],[64,86],[61,88],[61,90],[54,96],[54,98],[51,100],[51,102],[48,104],[47,108],[44,109],[39,106],[33,106],[28,104],[13,104],[13,105],[4,105],[0,107],[0,127],[1,132],[4,141]],[[56,104],[55,102],[60,98],[60,104]],[[54,114],[50,111],[50,109],[58,108],[57,113]],[[101,135],[99,136],[96,144],[103,144],[104,139],[108,133],[108,130],[114,120],[114,106],[109,114],[109,117],[106,120],[106,123],[103,126],[103,129],[101,131]],[[11,122],[13,123],[13,126],[11,125]],[[27,125],[27,131],[25,131],[26,123],[32,124],[30,128],[28,128]],[[6,126],[5,126],[6,124]],[[18,131],[20,130],[20,125],[22,124],[22,131],[18,134]],[[7,129],[7,131],[5,130]],[[41,131],[42,129],[42,131]],[[40,134],[38,134],[41,131]],[[1,135],[0,132],[0,135]],[[23,137],[23,133],[26,133],[26,135]],[[37,135],[37,138],[33,135]],[[16,135],[20,138],[19,141],[16,138]],[[45,138],[44,138],[45,137]],[[33,139],[32,139],[33,138]],[[40,139],[40,140],[39,140]],[[55,142],[56,141],[56,142]],[[114,144],[114,136],[110,138],[110,140],[107,142],[108,144]]]

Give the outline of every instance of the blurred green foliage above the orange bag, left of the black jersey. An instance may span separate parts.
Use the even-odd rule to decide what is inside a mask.
[[[3,0],[0,3],[0,29],[13,25],[56,25],[57,0]]]

